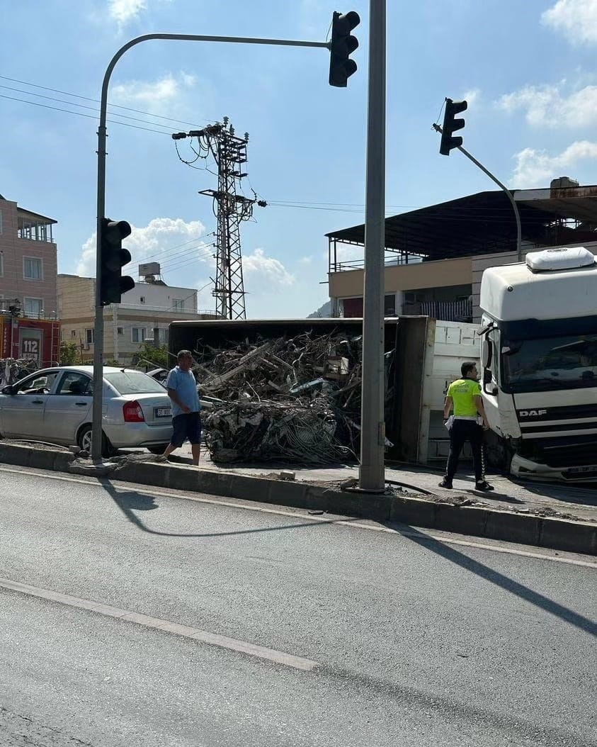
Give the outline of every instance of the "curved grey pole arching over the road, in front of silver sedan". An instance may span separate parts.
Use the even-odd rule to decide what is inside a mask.
[[[374,0],[372,0],[372,4]],[[104,307],[101,306],[99,279],[101,278],[101,231],[106,202],[106,118],[107,89],[116,63],[131,47],[151,39],[169,39],[191,42],[224,42],[233,44],[266,44],[274,46],[322,47],[330,49],[327,42],[304,42],[290,39],[258,39],[252,37],[212,37],[196,34],[145,34],[131,39],[122,46],[107,66],[104,81],[101,84],[101,105],[98,128],[98,193],[97,193],[97,228],[96,228],[96,323],[93,344],[93,421],[92,447],[93,462],[101,462],[101,418],[103,411],[103,369],[104,369]],[[383,207],[383,205],[382,205]]]

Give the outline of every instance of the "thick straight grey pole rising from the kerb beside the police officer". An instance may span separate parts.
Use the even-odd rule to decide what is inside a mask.
[[[369,0],[369,96],[359,489],[384,492],[386,0]]]

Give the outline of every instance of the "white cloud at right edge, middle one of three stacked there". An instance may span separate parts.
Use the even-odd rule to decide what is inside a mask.
[[[506,93],[496,102],[509,113],[523,110],[534,127],[587,127],[597,123],[597,86],[585,86],[569,96],[560,92],[566,84],[526,86]]]

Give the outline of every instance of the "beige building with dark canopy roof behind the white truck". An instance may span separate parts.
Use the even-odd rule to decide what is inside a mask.
[[[568,177],[513,192],[522,255],[543,247],[584,246],[597,253],[597,186]],[[332,315],[363,315],[365,226],[328,233]],[[517,261],[516,218],[501,190],[481,192],[386,219],[386,316],[425,314],[446,321],[481,319],[486,267]],[[356,257],[356,258],[355,258]]]

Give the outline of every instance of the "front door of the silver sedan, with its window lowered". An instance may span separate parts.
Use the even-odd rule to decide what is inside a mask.
[[[4,438],[46,438],[43,412],[54,389],[57,369],[36,371],[13,385],[13,394],[0,394],[0,433]]]

